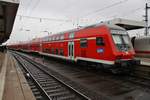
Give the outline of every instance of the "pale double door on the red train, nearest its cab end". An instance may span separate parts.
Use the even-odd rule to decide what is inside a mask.
[[[74,42],[68,42],[68,57],[70,60],[74,60]]]

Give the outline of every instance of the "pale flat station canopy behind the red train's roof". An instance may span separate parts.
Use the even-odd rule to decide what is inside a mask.
[[[122,18],[115,18],[110,21],[106,21],[108,24],[115,24],[120,27],[125,28],[126,30],[135,30],[135,29],[141,29],[145,27],[144,21],[135,21],[135,20],[128,20],[128,19],[122,19]]]

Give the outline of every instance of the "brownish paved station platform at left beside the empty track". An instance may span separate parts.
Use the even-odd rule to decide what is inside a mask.
[[[0,100],[36,100],[21,69],[8,52],[0,52]]]

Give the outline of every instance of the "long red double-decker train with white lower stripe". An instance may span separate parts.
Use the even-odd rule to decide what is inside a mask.
[[[135,52],[125,29],[110,24],[95,24],[8,47],[108,65],[111,69],[131,68],[139,63],[134,59]]]

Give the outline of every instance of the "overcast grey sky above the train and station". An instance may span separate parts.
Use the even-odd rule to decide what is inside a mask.
[[[54,34],[113,18],[142,21],[146,2],[150,0],[21,0],[7,42],[31,40],[48,32]]]

